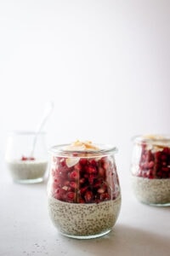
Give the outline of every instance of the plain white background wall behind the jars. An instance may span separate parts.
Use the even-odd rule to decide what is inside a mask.
[[[53,101],[48,147],[112,143],[127,177],[131,138],[169,133],[169,24],[168,0],[1,0],[0,160]]]

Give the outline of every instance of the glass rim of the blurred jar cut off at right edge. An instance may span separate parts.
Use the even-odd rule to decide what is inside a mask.
[[[152,134],[152,135],[137,135],[132,138],[134,143],[170,143],[170,135],[167,134]]]

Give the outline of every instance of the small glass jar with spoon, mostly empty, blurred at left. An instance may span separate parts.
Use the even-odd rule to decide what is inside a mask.
[[[8,132],[5,162],[14,182],[40,183],[48,166],[46,133]]]

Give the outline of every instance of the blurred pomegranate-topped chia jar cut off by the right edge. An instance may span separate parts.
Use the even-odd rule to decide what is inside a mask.
[[[133,138],[132,189],[141,202],[170,206],[170,137]]]

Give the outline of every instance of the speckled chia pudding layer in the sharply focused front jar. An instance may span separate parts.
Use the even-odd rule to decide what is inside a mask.
[[[48,212],[54,226],[65,236],[93,238],[110,232],[121,208],[121,195],[113,201],[81,204],[48,197]]]

